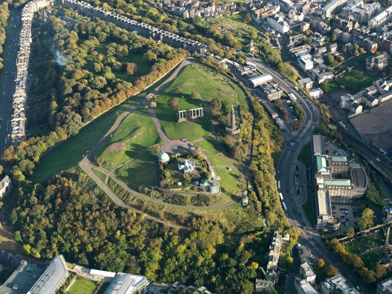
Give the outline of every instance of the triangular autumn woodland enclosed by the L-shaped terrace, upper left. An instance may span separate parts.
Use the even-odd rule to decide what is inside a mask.
[[[29,138],[18,147],[10,146],[3,153],[2,159],[13,166],[13,177],[17,181],[24,181],[25,175],[33,174],[35,164],[48,148],[77,134],[84,123],[146,88],[187,55],[183,49],[172,49],[98,19],[75,25],[72,31],[55,17],[50,21],[42,29],[49,31],[47,36],[55,40],[54,49],[60,50],[67,62],[60,70],[58,65],[52,64],[45,76],[47,91],[51,94],[51,131]],[[104,48],[106,54],[97,53],[100,71],[87,70],[88,54],[96,54],[95,48],[105,42],[110,42]],[[129,66],[119,65],[116,58],[133,52],[145,52],[143,58],[150,64],[150,72],[132,84],[116,78],[112,69]]]

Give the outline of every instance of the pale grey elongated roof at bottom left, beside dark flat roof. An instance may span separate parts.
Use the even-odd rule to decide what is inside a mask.
[[[57,255],[50,261],[49,267],[31,287],[28,294],[52,294],[68,276],[68,269],[63,255]]]

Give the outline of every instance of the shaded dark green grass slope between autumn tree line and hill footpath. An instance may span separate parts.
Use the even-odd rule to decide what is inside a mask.
[[[120,114],[134,103],[134,100],[127,100],[114,107],[83,127],[77,135],[50,149],[41,157],[30,180],[41,182],[62,170],[77,165],[84,155],[97,145]]]

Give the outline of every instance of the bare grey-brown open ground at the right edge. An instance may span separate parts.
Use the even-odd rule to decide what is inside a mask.
[[[350,119],[357,131],[369,143],[382,148],[385,152],[392,152],[392,125],[391,120],[392,103],[383,107],[373,108],[370,113],[361,114]]]

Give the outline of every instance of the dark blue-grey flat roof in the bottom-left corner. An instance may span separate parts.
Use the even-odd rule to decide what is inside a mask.
[[[0,294],[26,294],[37,281],[44,269],[36,264],[22,261],[21,265],[0,286]],[[12,288],[17,286],[17,289]]]

